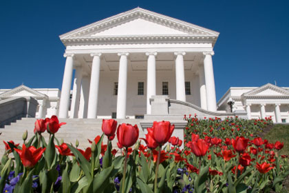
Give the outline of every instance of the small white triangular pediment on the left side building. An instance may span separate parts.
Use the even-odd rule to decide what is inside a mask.
[[[25,85],[20,85],[17,88],[12,88],[11,90],[8,90],[0,94],[0,97],[16,97],[16,96],[32,96],[36,98],[47,97],[47,95],[42,94],[41,92],[38,92],[36,90],[33,90],[32,88],[29,88]]]

